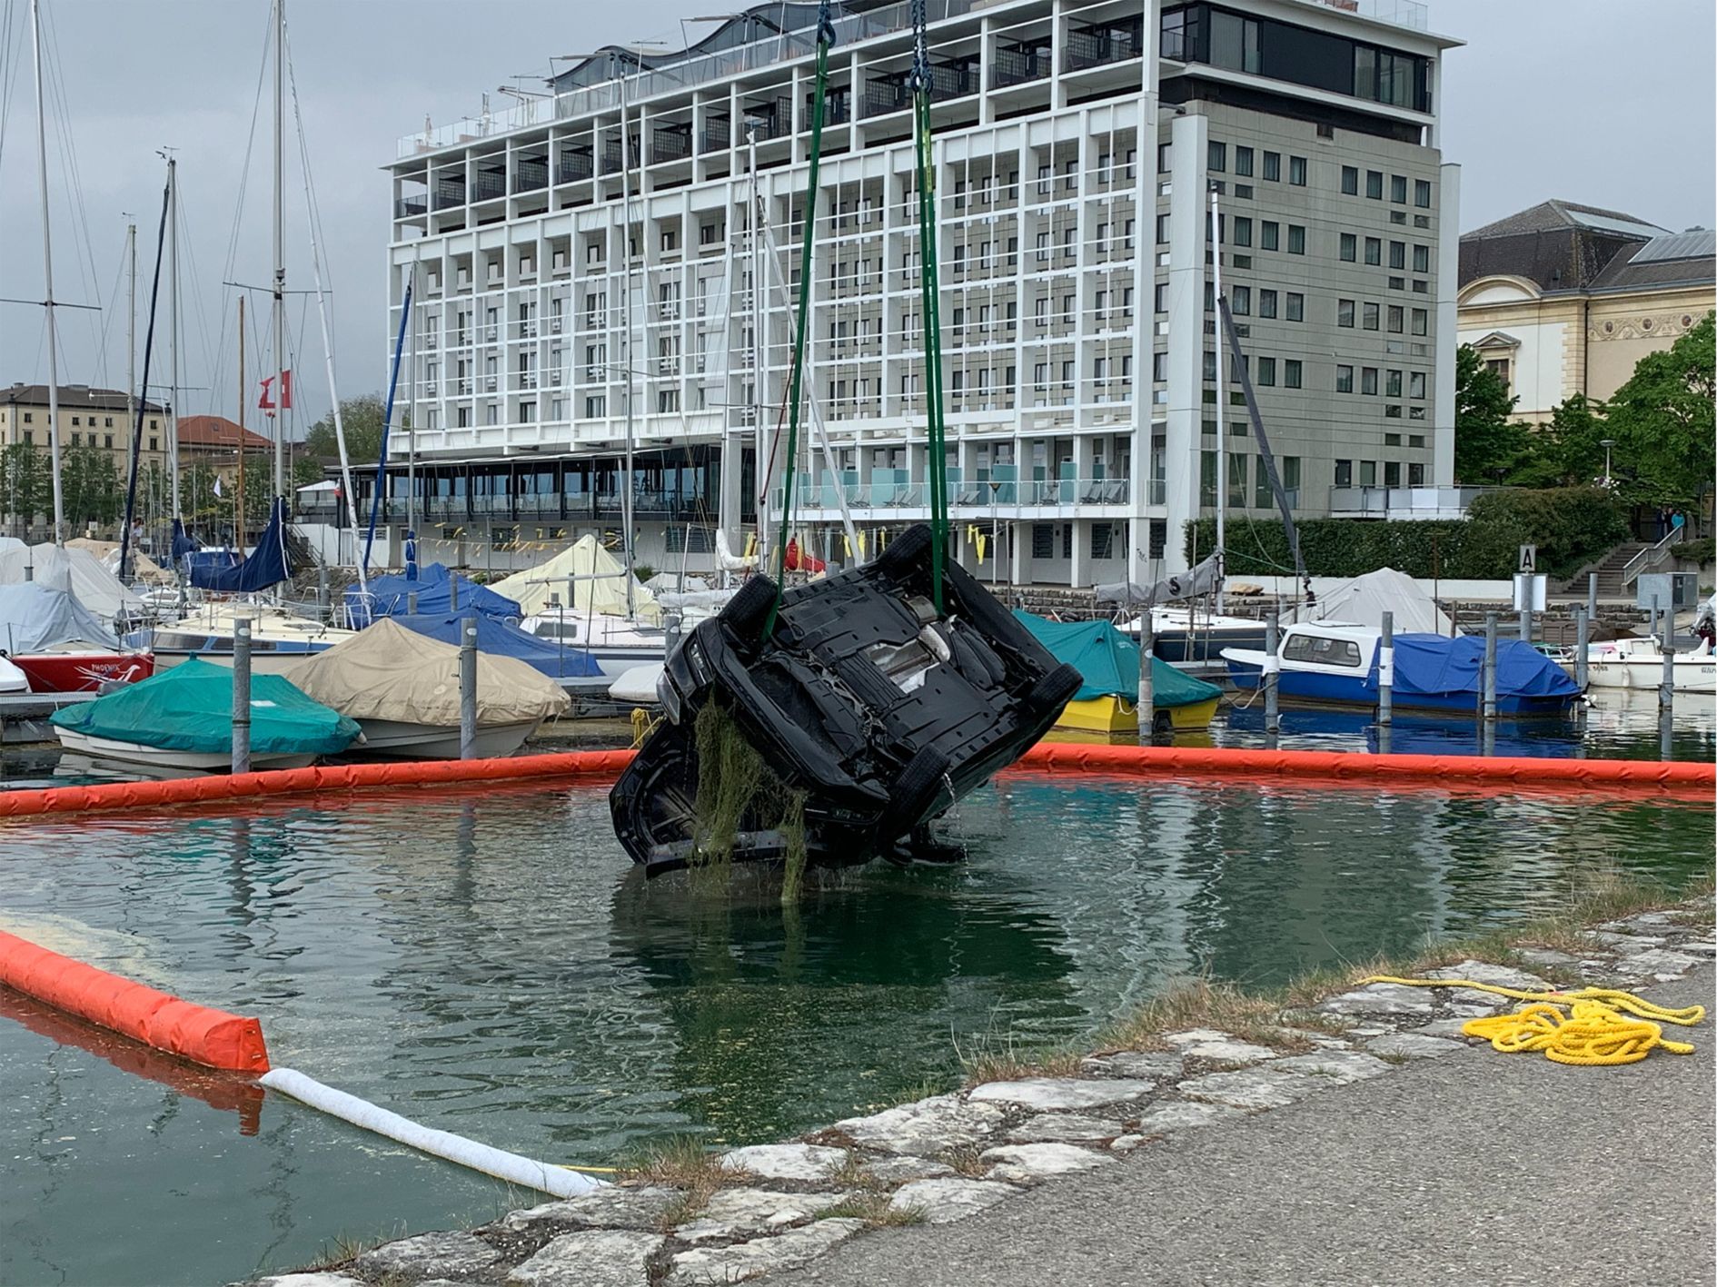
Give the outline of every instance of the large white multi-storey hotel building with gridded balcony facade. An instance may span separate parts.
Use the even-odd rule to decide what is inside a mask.
[[[1216,496],[1223,290],[1296,515],[1453,472],[1458,168],[1408,0],[931,0],[948,477],[986,580],[1185,568]],[[426,537],[618,544],[709,566],[759,501],[845,563],[927,517],[908,5],[836,7],[798,460],[781,407],[816,5],[400,141],[391,323],[412,287],[388,518]],[[755,196],[754,196],[755,194]],[[752,237],[752,211],[767,237]],[[776,273],[786,288],[776,283]],[[754,293],[754,281],[764,290]],[[390,328],[390,335],[391,335]],[[761,372],[761,379],[759,379]],[[1271,518],[1229,388],[1229,542]],[[414,462],[407,470],[405,456]],[[764,462],[759,470],[759,460]],[[762,475],[762,477],[759,477]]]

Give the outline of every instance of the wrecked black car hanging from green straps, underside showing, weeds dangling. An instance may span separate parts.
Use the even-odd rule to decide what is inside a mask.
[[[934,606],[929,527],[788,589],[749,580],[668,659],[666,721],[610,795],[649,873],[901,856],[1037,741],[1082,680],[965,570]],[[769,618],[774,613],[774,626]]]

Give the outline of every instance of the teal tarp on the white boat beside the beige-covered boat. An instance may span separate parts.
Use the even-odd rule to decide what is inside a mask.
[[[220,753],[232,746],[232,669],[191,657],[94,702],[62,707],[50,722],[91,738]],[[335,755],[357,734],[355,721],[312,702],[278,674],[251,676],[252,753]]]

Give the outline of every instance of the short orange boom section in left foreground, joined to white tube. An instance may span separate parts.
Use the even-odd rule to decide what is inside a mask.
[[[263,1024],[170,997],[0,932],[0,983],[122,1036],[228,1072],[263,1074]]]

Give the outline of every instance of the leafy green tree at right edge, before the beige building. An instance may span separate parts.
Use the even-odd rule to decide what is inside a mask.
[[[1641,357],[1609,402],[1616,474],[1636,505],[1691,506],[1712,487],[1714,317],[1707,312],[1667,350]]]

